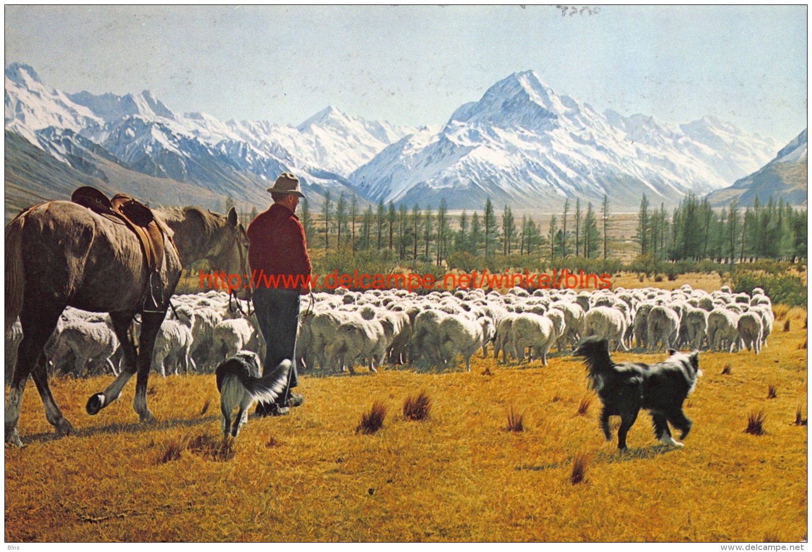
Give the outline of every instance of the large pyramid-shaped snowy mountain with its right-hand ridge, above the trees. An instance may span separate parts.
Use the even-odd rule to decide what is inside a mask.
[[[644,115],[598,113],[559,96],[533,71],[460,106],[437,135],[384,149],[349,179],[374,201],[481,208],[486,197],[557,208],[567,197],[634,206],[676,203],[728,186],[769,159],[771,140],[714,118],[668,126]]]

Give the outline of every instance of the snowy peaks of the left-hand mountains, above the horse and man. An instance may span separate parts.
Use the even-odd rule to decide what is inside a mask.
[[[173,113],[149,91],[126,96],[59,92],[18,63],[6,67],[6,130],[99,178],[104,175],[92,166],[97,152],[90,143],[140,173],[244,199],[255,194],[266,199],[266,182],[285,171],[299,175],[304,189],[315,195],[330,188],[352,193],[345,177],[411,131],[333,107],[299,127],[221,122],[206,113]],[[84,158],[83,152],[88,154]]]

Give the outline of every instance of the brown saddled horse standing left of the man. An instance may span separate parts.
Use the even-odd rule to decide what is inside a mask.
[[[213,269],[229,274],[247,274],[248,237],[234,208],[227,216],[195,207],[156,209],[154,214],[165,235],[162,305],[169,305],[183,267],[197,260],[208,259]],[[158,313],[143,311],[147,278],[136,234],[76,203],[42,203],[6,225],[6,332],[18,315],[23,327],[6,400],[6,443],[22,446],[17,422],[28,374],[57,434],[73,429],[51,395],[43,352],[66,306],[109,312],[123,349],[121,373],[103,392],[90,397],[88,413],[96,414],[116,400],[137,372],[133,407],[140,421],[154,421],[147,408],[147,379],[166,307]],[[127,330],[139,313],[136,350]]]

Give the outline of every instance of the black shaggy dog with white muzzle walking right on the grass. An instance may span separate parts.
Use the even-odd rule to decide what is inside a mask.
[[[691,430],[693,424],[685,417],[682,403],[702,375],[699,352],[685,354],[670,349],[668,353],[670,356],[658,364],[615,364],[609,357],[609,342],[596,336],[581,340],[573,351],[574,355],[585,357],[590,387],[603,402],[600,423],[607,441],[611,439],[609,417],[620,416],[617,446],[621,450],[626,448],[626,434],[640,409],[650,412],[654,435],[660,443],[683,446],[671,436],[668,422],[682,432],[680,439],[685,439]]]

